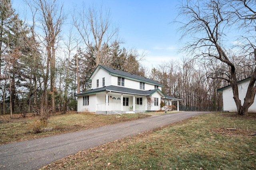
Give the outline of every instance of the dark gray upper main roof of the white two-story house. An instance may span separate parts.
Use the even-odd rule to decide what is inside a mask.
[[[98,67],[101,67],[102,69],[105,69],[110,74],[114,74],[114,75],[121,76],[121,77],[126,77],[126,78],[131,78],[131,79],[136,79],[136,80],[139,80],[139,81],[143,81],[143,82],[147,82],[147,83],[151,83],[151,84],[154,84],[154,85],[164,87],[164,85],[162,85],[161,83],[158,83],[157,81],[154,81],[152,79],[149,79],[149,78],[146,78],[146,77],[143,77],[143,76],[134,75],[132,73],[128,73],[128,72],[125,72],[125,71],[120,71],[120,70],[117,70],[117,69],[106,67],[104,65],[98,65]]]

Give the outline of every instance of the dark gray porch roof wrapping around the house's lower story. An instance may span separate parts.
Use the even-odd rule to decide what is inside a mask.
[[[91,95],[95,93],[101,93],[101,92],[116,92],[116,93],[124,93],[124,94],[130,94],[130,95],[141,95],[141,96],[151,96],[152,94],[158,92],[162,95],[162,97],[166,97],[160,89],[154,89],[154,90],[136,90],[136,89],[129,89],[125,87],[119,87],[119,86],[104,86],[97,89],[91,89],[88,91],[85,91],[83,93],[75,95],[76,97],[82,96],[82,95]]]

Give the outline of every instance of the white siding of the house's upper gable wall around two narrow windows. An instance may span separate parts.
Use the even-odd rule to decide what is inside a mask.
[[[93,76],[92,79],[92,89],[96,89],[97,85],[96,85],[96,81],[97,79],[99,80],[99,87],[102,87],[102,78],[105,77],[105,86],[109,86],[111,85],[111,75],[105,71],[104,69],[99,69],[96,73],[94,73],[95,75]]]

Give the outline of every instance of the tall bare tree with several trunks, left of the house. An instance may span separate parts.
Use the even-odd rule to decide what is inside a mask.
[[[38,25],[44,32],[41,36],[41,42],[46,48],[46,75],[44,77],[44,93],[41,98],[41,103],[47,105],[47,83],[50,73],[50,100],[52,110],[55,112],[55,60],[56,60],[56,47],[60,39],[60,31],[64,22],[65,16],[62,14],[62,7],[58,7],[57,0],[33,0],[34,10],[39,14],[38,20],[42,24]]]

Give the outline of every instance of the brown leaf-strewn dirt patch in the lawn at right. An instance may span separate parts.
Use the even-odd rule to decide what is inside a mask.
[[[212,132],[223,134],[223,135],[242,135],[242,136],[255,136],[256,132],[252,130],[242,130],[234,128],[213,128]]]

